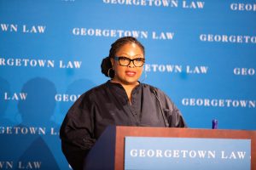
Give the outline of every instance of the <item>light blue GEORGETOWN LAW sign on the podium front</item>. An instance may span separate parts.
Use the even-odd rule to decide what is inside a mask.
[[[125,170],[250,168],[250,139],[125,137]]]

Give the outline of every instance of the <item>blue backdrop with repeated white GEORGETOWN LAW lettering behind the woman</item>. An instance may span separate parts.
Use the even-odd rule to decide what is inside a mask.
[[[0,0],[0,169],[71,168],[61,122],[124,36],[189,127],[256,129],[254,0]]]

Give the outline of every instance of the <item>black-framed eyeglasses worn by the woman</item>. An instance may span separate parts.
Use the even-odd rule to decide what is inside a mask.
[[[113,58],[114,60],[118,60],[119,61],[119,65],[122,65],[122,66],[128,66],[131,64],[131,61],[133,63],[134,66],[136,67],[142,67],[145,63],[145,59],[140,57],[140,58],[135,58],[135,59],[129,59],[127,57],[123,57],[123,56],[115,56]]]

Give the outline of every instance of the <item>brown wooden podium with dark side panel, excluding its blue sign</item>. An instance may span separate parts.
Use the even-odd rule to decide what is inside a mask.
[[[119,126],[109,126],[102,133],[84,161],[84,170],[125,169],[125,137],[251,139],[251,169],[256,170],[256,131]]]

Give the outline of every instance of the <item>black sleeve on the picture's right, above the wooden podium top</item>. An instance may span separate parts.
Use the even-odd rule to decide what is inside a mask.
[[[177,109],[177,106],[172,100],[164,94],[164,92],[157,90],[160,96],[160,103],[163,107],[164,114],[166,116],[169,127],[187,127],[184,121],[182,113]]]

